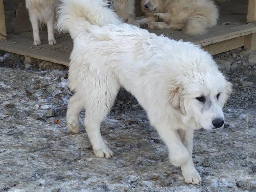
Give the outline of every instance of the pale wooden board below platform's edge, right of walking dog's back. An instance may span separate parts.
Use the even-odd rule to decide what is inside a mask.
[[[215,55],[242,46],[244,46],[244,36],[211,44],[203,47],[203,49],[210,52],[210,54]]]

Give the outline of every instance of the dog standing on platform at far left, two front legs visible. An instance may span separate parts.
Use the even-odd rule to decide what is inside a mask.
[[[39,24],[45,23],[48,32],[48,44],[56,44],[54,38],[54,16],[58,0],[26,0],[30,22],[33,29],[34,45],[41,44],[39,35]]]

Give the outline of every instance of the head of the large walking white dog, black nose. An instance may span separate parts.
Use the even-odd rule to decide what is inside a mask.
[[[224,126],[222,108],[232,86],[218,71],[214,61],[209,61],[212,62],[209,69],[206,69],[208,65],[195,64],[171,83],[169,102],[184,115],[184,121],[193,120],[197,128],[212,130]]]

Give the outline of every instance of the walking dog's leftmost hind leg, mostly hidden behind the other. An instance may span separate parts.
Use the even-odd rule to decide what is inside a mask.
[[[75,93],[68,100],[68,110],[66,114],[66,125],[69,131],[76,134],[79,132],[79,113],[84,108],[82,96]]]

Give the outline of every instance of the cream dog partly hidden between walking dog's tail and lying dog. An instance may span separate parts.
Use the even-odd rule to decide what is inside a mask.
[[[109,0],[112,3],[112,8],[114,12],[121,18],[124,22],[129,24],[140,26],[135,22],[135,7],[134,0]]]

